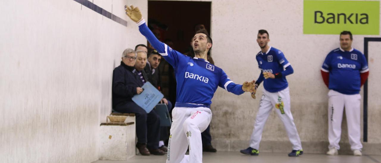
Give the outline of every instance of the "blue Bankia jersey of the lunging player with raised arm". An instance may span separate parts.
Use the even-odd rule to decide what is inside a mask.
[[[191,58],[173,50],[160,42],[148,29],[144,20],[139,23],[139,31],[163,58],[171,64],[176,75],[177,107],[209,107],[218,86],[234,94],[242,94],[242,85],[232,82],[225,72],[208,61]]]

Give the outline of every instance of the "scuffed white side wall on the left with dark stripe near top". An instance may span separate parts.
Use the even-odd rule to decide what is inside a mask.
[[[123,6],[91,0],[127,20]],[[98,160],[99,124],[111,112],[112,70],[125,48],[146,43],[73,0],[0,2],[0,160]]]

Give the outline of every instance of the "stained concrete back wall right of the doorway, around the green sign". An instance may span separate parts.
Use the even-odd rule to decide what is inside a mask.
[[[211,21],[213,59],[237,83],[258,78],[260,70],[255,55],[260,48],[256,43],[256,35],[259,29],[269,31],[269,45],[282,50],[295,70],[287,80],[290,86],[291,112],[302,145],[307,152],[325,152],[328,142],[328,89],[323,84],[320,67],[325,56],[339,47],[339,35],[304,35],[302,0],[216,0],[212,1]],[[352,46],[363,51],[364,37],[380,36],[354,35]],[[370,58],[374,58],[374,62],[381,61],[377,57],[381,52],[380,45],[372,44],[370,47],[373,50]],[[369,80],[378,81],[380,76],[376,75],[376,71],[381,67],[372,62],[369,67]],[[369,89],[372,90],[373,97],[378,98],[381,95],[380,85],[370,84]],[[263,86],[260,86],[257,97],[261,97],[262,90]],[[259,100],[251,99],[248,93],[237,97],[218,89],[212,102],[211,133],[214,144],[221,150],[248,147]],[[369,142],[379,144],[381,132],[376,124],[381,121],[373,118],[381,115],[377,99],[369,100],[369,110]],[[262,142],[262,151],[291,150],[284,126],[275,112],[267,120]],[[341,142],[348,142],[345,120]]]

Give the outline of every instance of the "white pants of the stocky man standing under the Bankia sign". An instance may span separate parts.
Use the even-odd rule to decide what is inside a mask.
[[[360,103],[361,95],[342,94],[334,90],[328,92],[328,140],[329,149],[340,149],[339,141],[341,136],[341,121],[343,111],[347,117],[348,137],[351,150],[361,150],[361,129],[360,129]]]

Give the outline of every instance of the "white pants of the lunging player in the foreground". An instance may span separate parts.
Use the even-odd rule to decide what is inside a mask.
[[[172,116],[166,162],[180,163],[189,159],[189,163],[202,163],[201,133],[211,121],[211,110],[207,107],[174,107]],[[188,145],[189,158],[184,158]]]

